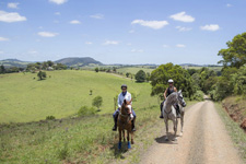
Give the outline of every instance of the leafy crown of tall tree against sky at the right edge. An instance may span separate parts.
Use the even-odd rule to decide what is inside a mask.
[[[224,67],[239,68],[246,63],[246,33],[236,35],[232,42],[227,42],[227,49],[221,49],[218,56],[222,56],[219,63]]]

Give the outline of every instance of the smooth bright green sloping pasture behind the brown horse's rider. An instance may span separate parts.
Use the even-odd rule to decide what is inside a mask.
[[[112,114],[114,97],[121,92],[124,83],[137,97],[133,102],[136,110],[157,103],[156,97],[150,96],[149,83],[134,83],[104,72],[50,71],[43,81],[37,80],[36,73],[1,74],[0,122],[36,121],[50,115],[56,118],[71,116],[83,105],[92,106],[92,99],[97,95],[103,97],[99,114]]]

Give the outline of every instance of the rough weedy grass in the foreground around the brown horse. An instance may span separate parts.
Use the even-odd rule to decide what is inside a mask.
[[[127,143],[121,151],[117,149],[118,133],[112,131],[109,114],[0,125],[0,163],[137,163],[140,150],[153,143],[164,128],[159,115],[159,106],[138,109],[136,144],[130,151]]]

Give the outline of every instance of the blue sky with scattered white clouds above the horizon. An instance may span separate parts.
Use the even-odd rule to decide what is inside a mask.
[[[215,65],[246,0],[1,0],[0,59]]]

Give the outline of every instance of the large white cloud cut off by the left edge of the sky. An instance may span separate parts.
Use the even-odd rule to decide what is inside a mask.
[[[12,22],[26,21],[26,17],[20,15],[16,12],[5,12],[0,10],[0,21],[12,23]]]

